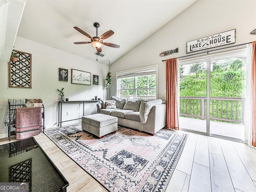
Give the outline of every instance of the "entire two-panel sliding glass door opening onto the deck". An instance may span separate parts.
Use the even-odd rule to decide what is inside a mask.
[[[179,127],[244,141],[246,52],[179,62]]]

